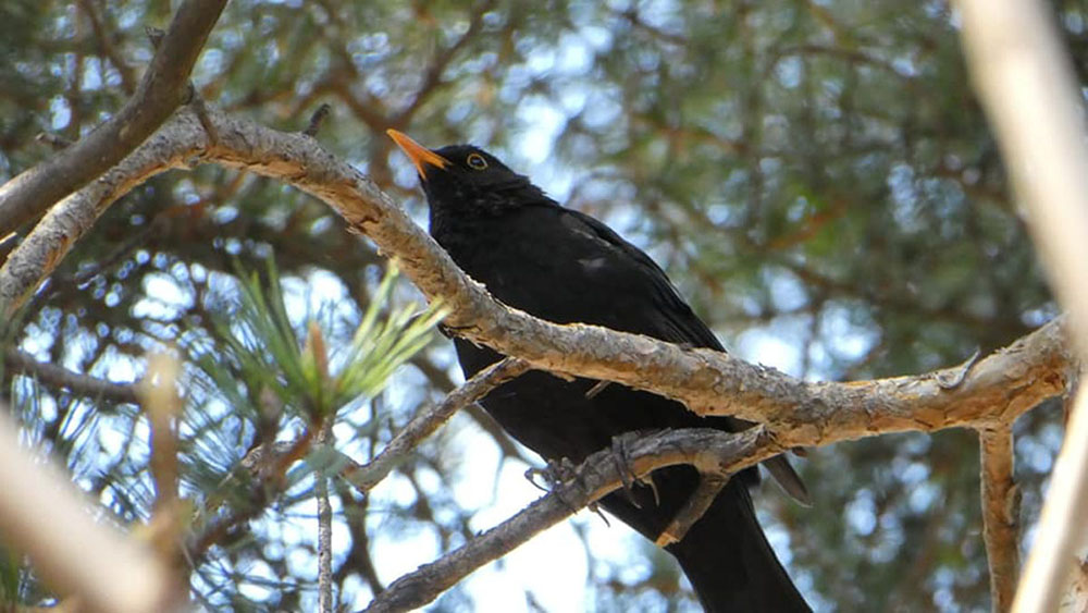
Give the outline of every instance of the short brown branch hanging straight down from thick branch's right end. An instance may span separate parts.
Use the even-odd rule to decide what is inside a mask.
[[[1009,424],[979,428],[982,538],[990,566],[994,612],[1012,609],[1019,571],[1019,489],[1013,481],[1013,433]]]

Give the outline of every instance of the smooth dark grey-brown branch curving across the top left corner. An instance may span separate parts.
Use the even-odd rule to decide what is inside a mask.
[[[104,173],[166,121],[182,103],[193,65],[225,4],[183,2],[136,94],[121,111],[72,147],[0,186],[0,236]]]

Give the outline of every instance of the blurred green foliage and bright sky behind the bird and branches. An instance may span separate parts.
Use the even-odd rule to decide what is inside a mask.
[[[1051,4],[1088,82],[1088,4]],[[37,133],[77,138],[119,109],[150,57],[143,27],[163,26],[170,10],[148,0],[0,5],[0,179],[51,155]],[[484,145],[645,247],[733,351],[794,375],[925,371],[1001,346],[1055,312],[945,1],[238,0],[194,79],[210,103],[283,130],[301,130],[331,103],[318,137],[421,222],[413,171],[392,154],[385,128],[434,146]],[[119,381],[138,377],[144,355],[161,346],[199,341],[201,355],[223,356],[210,370],[221,380],[194,378],[202,383],[186,399],[194,441],[218,431],[217,420],[238,420],[234,438],[191,468],[207,478],[186,495],[201,499],[267,427],[258,410],[227,410],[237,399],[209,399],[232,381],[245,395],[244,365],[226,361],[246,347],[217,334],[217,321],[248,291],[236,267],[263,270],[272,254],[290,307],[276,330],[305,340],[298,311],[333,305],[323,328],[332,353],[346,355],[371,305],[403,312],[416,296],[404,283],[381,290],[386,262],[324,206],[208,167],[160,175],[113,205],[32,302],[15,342]],[[252,335],[268,342],[265,332]],[[366,461],[456,380],[445,343],[410,361],[386,392],[337,414],[342,451]],[[273,363],[265,366],[286,368]],[[118,520],[146,519],[138,409],[7,376],[32,437]],[[273,391],[283,400],[294,397],[288,390]],[[270,434],[297,427],[284,419]],[[388,543],[423,543],[418,563],[480,528],[481,508],[454,493],[487,477],[462,462],[465,432],[475,433],[474,446],[492,441],[504,462],[522,457],[470,412],[384,489],[367,499],[336,490],[343,602],[363,603],[396,577],[374,555]],[[1046,408],[1017,425],[1025,525],[1061,432],[1059,412]],[[821,610],[986,610],[977,453],[960,431],[841,444],[803,465],[813,508],[772,488],[758,498]],[[239,609],[312,603],[306,487],[211,549],[194,592]],[[243,504],[243,493],[224,504]],[[592,519],[578,526],[598,529]],[[676,569],[636,543],[639,564],[586,549],[586,606],[690,608]],[[544,596],[527,588],[526,606]],[[461,586],[435,608],[470,610],[478,598]]]

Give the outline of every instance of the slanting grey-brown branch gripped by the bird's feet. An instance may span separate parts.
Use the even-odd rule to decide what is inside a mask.
[[[702,471],[726,476],[783,451],[763,428],[737,434],[708,429],[668,430],[650,437],[630,437],[625,449],[627,466],[616,462],[610,449],[594,453],[576,469],[572,478],[558,483],[517,515],[393,581],[366,611],[391,613],[423,606],[469,573],[622,487],[630,475],[644,477],[666,466],[691,464]]]

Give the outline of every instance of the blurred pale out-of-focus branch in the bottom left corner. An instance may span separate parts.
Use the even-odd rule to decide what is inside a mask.
[[[0,536],[30,557],[47,583],[91,611],[175,611],[166,568],[146,548],[95,522],[84,500],[50,462],[32,461],[0,409]]]

